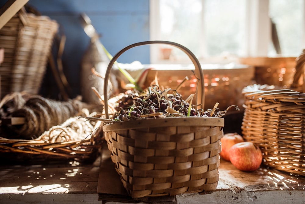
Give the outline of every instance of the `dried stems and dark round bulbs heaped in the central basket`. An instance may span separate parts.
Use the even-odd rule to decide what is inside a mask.
[[[129,121],[142,118],[163,117],[222,117],[227,110],[217,111],[218,103],[213,109],[197,109],[192,104],[194,94],[186,100],[176,90],[161,91],[157,85],[146,88],[143,92],[128,90],[117,101],[113,121]]]

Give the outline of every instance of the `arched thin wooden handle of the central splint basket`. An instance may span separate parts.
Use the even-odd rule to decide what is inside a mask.
[[[123,48],[122,50],[120,50],[116,55],[113,56],[113,58],[110,60],[106,73],[105,73],[105,79],[104,79],[104,109],[105,109],[105,115],[106,118],[109,119],[109,113],[108,113],[108,80],[109,80],[109,75],[110,75],[110,71],[113,67],[113,64],[115,61],[117,61],[117,59],[120,57],[121,54],[123,54],[125,51],[136,47],[136,46],[141,46],[141,45],[148,45],[148,44],[167,44],[167,45],[171,45],[174,47],[179,48],[180,50],[182,50],[185,54],[188,55],[188,57],[191,59],[192,63],[195,66],[195,74],[196,76],[199,76],[199,80],[200,81],[200,86],[197,87],[197,95],[199,94],[199,96],[196,95],[196,100],[197,100],[197,104],[200,104],[200,107],[202,109],[204,109],[204,77],[203,77],[203,70],[201,69],[201,65],[198,61],[198,59],[196,58],[196,56],[190,51],[188,50],[188,48],[186,48],[185,46],[182,46],[178,43],[174,43],[174,42],[170,42],[170,41],[162,41],[162,40],[154,40],[154,41],[144,41],[144,42],[140,42],[140,43],[134,43],[131,44],[125,48]]]

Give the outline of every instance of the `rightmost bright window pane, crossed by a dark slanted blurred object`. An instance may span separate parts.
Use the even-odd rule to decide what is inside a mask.
[[[303,50],[304,0],[269,0],[269,16],[276,24],[282,55],[300,55]],[[275,54],[273,46],[268,54]]]

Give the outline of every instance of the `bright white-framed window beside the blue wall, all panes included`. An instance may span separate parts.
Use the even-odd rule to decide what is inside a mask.
[[[202,62],[230,57],[298,56],[304,45],[304,2],[151,0],[151,39],[180,43]],[[272,28],[276,28],[280,50],[272,43]],[[178,49],[172,49],[168,57],[166,51],[170,49],[151,46],[151,63],[185,61],[185,54]]]

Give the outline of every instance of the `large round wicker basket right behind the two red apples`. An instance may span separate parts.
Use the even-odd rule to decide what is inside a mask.
[[[261,148],[268,167],[305,176],[305,93],[253,85],[243,94],[243,137]]]

